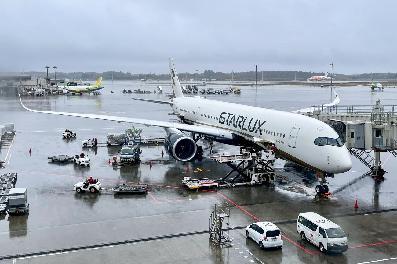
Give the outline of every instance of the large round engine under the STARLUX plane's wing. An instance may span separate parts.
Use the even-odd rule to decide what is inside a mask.
[[[164,139],[166,152],[175,160],[189,161],[197,153],[196,142],[175,128],[166,129],[166,138]]]

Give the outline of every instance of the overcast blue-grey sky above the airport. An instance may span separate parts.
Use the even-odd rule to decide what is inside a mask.
[[[397,72],[395,1],[1,1],[0,71]]]

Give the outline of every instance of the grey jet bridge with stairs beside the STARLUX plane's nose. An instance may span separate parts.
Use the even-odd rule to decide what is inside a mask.
[[[351,155],[364,163],[373,176],[384,180],[380,152],[397,157],[397,106],[382,105],[316,105],[310,112],[298,112],[333,127],[345,142]]]

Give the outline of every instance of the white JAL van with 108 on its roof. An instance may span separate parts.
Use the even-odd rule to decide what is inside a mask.
[[[316,213],[300,213],[297,232],[302,240],[308,240],[321,252],[340,253],[347,251],[347,237],[342,228]]]

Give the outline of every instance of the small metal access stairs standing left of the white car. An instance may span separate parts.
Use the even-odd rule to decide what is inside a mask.
[[[226,203],[225,207],[220,207],[220,205],[215,204],[215,208],[212,210],[209,219],[210,238],[216,245],[228,242],[231,244],[233,241],[229,237],[230,210],[227,206],[229,206],[228,203]]]

